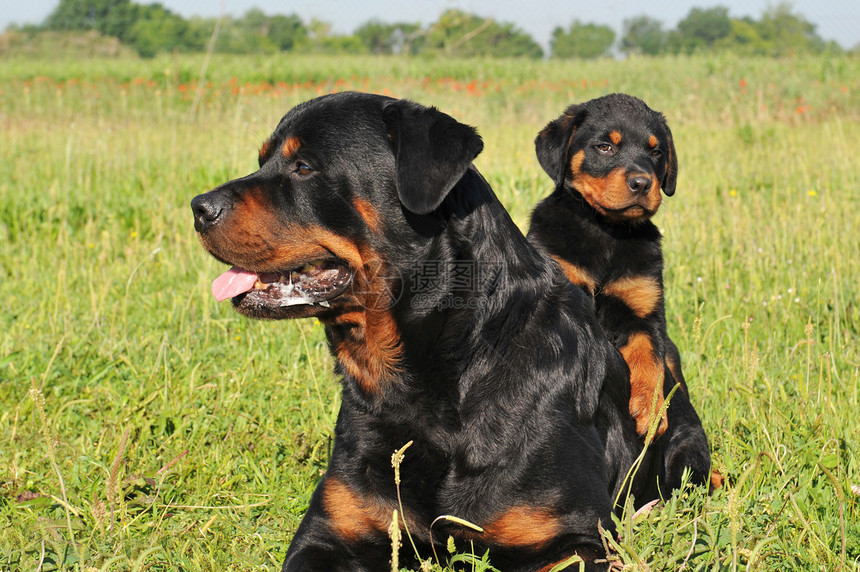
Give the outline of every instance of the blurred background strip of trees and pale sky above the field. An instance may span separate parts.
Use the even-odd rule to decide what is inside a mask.
[[[0,13],[0,55],[159,52],[625,57],[857,52],[850,0],[34,0]]]

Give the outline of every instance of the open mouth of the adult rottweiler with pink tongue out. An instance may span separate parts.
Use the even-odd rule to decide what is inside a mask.
[[[220,302],[255,307],[297,305],[327,306],[343,294],[352,272],[338,260],[314,260],[281,273],[257,274],[234,266],[212,282],[212,294]]]

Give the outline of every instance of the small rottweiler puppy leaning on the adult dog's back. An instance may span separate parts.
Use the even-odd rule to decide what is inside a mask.
[[[666,333],[660,231],[651,222],[675,193],[672,132],[642,100],[612,94],[571,105],[535,139],[555,191],[534,209],[528,238],[593,297],[598,321],[630,369],[630,413],[645,435],[680,384],[655,436],[665,455],[664,491],[708,482],[710,452],[690,403],[678,348]],[[715,486],[719,475],[714,474]]]

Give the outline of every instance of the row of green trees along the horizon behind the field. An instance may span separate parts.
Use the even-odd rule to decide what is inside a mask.
[[[786,56],[841,52],[787,3],[759,19],[733,18],[726,7],[692,8],[674,29],[641,15],[623,22],[620,37],[603,24],[572,22],[553,30],[549,53],[514,24],[457,9],[429,25],[368,21],[352,34],[335,34],[321,20],[252,9],[240,17],[185,19],[161,4],[132,0],[60,0],[56,9],[24,31],[88,31],[118,38],[143,57],[159,52],[440,54],[451,57],[601,58],[616,54],[693,54],[727,50]],[[217,32],[217,33],[216,33]],[[213,41],[214,40],[214,41]],[[211,44],[211,46],[210,46]]]

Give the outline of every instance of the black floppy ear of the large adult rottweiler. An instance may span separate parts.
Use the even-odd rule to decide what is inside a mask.
[[[387,104],[383,120],[394,149],[397,194],[417,214],[436,210],[484,148],[473,127],[412,101]]]

